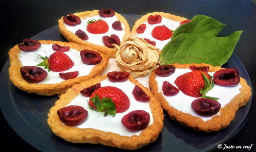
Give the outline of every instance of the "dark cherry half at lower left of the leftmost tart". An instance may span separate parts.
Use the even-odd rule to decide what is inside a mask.
[[[23,66],[20,68],[22,78],[28,83],[39,83],[46,79],[48,73],[38,66]]]

